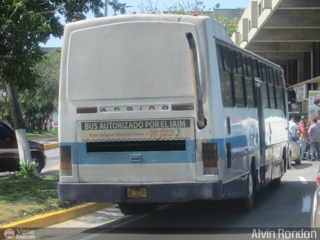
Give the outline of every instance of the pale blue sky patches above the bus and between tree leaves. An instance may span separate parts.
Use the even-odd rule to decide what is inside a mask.
[[[132,11],[136,11],[136,13],[139,13],[140,9],[137,6],[141,5],[141,2],[143,2],[143,5],[147,5],[146,1],[147,0],[118,0],[118,2],[121,2],[121,3],[125,2],[126,5],[132,6],[132,7],[126,8],[126,13],[130,13]],[[216,3],[220,4],[219,8],[237,8],[237,7],[245,8],[250,0],[201,0],[201,1],[203,2],[205,9],[211,8],[212,10],[213,7],[215,7]],[[150,0],[150,2],[152,3],[152,7],[154,7],[156,4],[156,7],[162,11],[162,10],[165,10],[166,7],[170,7],[178,2],[180,4],[187,4],[187,2],[195,3],[196,1],[195,0]],[[104,9],[101,9],[101,12],[104,13]],[[110,6],[108,6],[107,8],[108,16],[111,16],[113,13],[114,13],[113,9]],[[87,19],[88,18],[93,18],[93,15],[88,14]],[[61,19],[61,22],[64,23],[64,19]],[[61,47],[62,38],[59,39],[59,38],[51,37],[46,42],[46,44],[40,44],[40,45],[44,47]]]

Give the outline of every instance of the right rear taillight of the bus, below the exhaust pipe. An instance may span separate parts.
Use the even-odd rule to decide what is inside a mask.
[[[202,143],[202,160],[204,174],[217,174],[218,145],[217,143]]]

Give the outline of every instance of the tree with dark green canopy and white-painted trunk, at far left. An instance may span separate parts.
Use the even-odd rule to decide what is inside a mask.
[[[109,0],[108,4],[124,13],[125,3]],[[52,35],[61,37],[63,24],[72,18],[84,19],[91,11],[102,16],[101,0],[2,0],[0,6],[0,79],[6,88],[18,141],[20,161],[30,160],[30,150],[25,135],[25,124],[18,102],[17,88],[21,91],[34,85],[34,65],[42,59],[39,43],[45,43]]]

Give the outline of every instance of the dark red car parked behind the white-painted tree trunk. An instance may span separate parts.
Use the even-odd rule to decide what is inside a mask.
[[[32,161],[35,161],[35,168],[40,172],[46,163],[43,144],[28,141]],[[12,128],[0,120],[0,172],[14,171],[19,169],[19,152],[15,133]]]

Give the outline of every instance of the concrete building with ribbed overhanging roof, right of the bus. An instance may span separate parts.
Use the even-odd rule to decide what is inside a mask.
[[[320,90],[320,1],[250,0],[231,39],[282,66],[286,82],[296,87],[297,111],[308,107],[308,90]],[[320,109],[320,106],[319,106]]]

